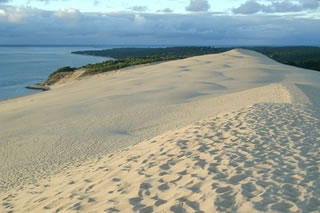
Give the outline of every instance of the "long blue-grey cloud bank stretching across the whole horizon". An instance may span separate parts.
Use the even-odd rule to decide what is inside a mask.
[[[319,37],[319,20],[275,15],[0,10],[0,44],[320,45]]]

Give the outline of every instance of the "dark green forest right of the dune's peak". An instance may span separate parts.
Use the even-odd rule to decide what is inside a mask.
[[[252,47],[282,64],[320,71],[319,47]]]

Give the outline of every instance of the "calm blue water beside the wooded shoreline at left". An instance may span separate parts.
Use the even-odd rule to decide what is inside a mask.
[[[71,54],[72,51],[105,47],[0,46],[0,100],[36,93],[25,87],[40,83],[63,66],[79,67],[106,58]]]

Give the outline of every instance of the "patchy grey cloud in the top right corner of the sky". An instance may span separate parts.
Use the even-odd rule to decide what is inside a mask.
[[[320,7],[319,0],[280,0],[271,1],[269,4],[260,3],[257,0],[249,0],[232,11],[235,14],[254,14],[254,13],[289,13],[316,10]]]

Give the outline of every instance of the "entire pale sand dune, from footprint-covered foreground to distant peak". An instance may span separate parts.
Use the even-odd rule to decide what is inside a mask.
[[[0,212],[319,212],[317,82],[234,50],[0,102]]]

